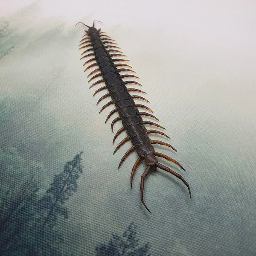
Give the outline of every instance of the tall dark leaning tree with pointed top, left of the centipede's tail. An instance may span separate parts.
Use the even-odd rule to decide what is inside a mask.
[[[38,201],[38,210],[41,212],[44,225],[55,222],[58,215],[68,218],[65,201],[77,190],[76,180],[82,173],[81,151],[73,160],[67,162],[63,172],[55,175],[53,183],[45,195]]]

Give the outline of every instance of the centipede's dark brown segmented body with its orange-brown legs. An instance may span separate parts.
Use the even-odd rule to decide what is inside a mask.
[[[85,25],[85,26],[87,26],[87,25]],[[176,172],[172,171],[168,167],[163,166],[160,163],[158,163],[156,156],[164,157],[167,160],[171,160],[172,162],[176,163],[183,169],[183,167],[177,161],[173,160],[170,157],[167,157],[166,155],[163,155],[163,154],[160,154],[160,153],[157,153],[154,151],[154,147],[152,146],[152,144],[155,144],[155,143],[158,143],[161,145],[166,145],[171,148],[173,148],[173,147],[171,145],[169,145],[168,143],[164,143],[162,141],[158,141],[158,140],[151,141],[150,138],[148,137],[149,133],[158,133],[158,134],[162,134],[166,137],[168,137],[168,136],[166,134],[164,134],[163,132],[160,132],[157,130],[147,130],[145,128],[144,124],[154,125],[154,126],[157,126],[160,128],[163,128],[163,127],[154,122],[144,121],[142,119],[142,116],[151,116],[154,119],[157,119],[157,118],[150,113],[140,112],[138,110],[138,108],[146,108],[149,111],[151,111],[151,110],[148,107],[146,107],[145,105],[135,104],[133,99],[140,98],[145,101],[147,101],[147,100],[138,95],[131,95],[128,92],[128,91],[139,91],[140,93],[144,93],[141,90],[138,90],[135,88],[127,88],[125,86],[125,84],[130,84],[130,83],[131,84],[139,84],[136,81],[123,81],[122,80],[122,78],[124,78],[124,77],[136,77],[136,76],[130,75],[130,74],[121,75],[120,72],[122,72],[122,71],[128,71],[128,72],[134,72],[134,71],[132,71],[128,68],[118,69],[117,67],[130,67],[130,66],[128,66],[127,64],[123,64],[123,63],[116,64],[116,61],[127,61],[127,60],[112,58],[113,56],[125,56],[125,55],[122,55],[121,54],[122,52],[120,52],[119,50],[116,49],[119,47],[116,47],[113,45],[115,43],[113,43],[113,40],[111,38],[109,38],[106,35],[102,35],[102,33],[100,33],[100,29],[97,30],[96,28],[94,28],[94,23],[93,23],[93,27],[89,27],[89,26],[87,26],[87,27],[89,28],[88,31],[85,30],[87,38],[82,39],[81,40],[82,43],[80,44],[80,45],[83,45],[83,44],[85,44],[85,45],[82,46],[80,49],[83,49],[86,47],[88,47],[88,49],[82,53],[82,55],[84,55],[82,58],[87,58],[89,56],[94,56],[94,58],[90,58],[88,61],[86,61],[84,63],[84,65],[93,61],[94,63],[90,64],[87,67],[87,69],[89,69],[90,67],[97,67],[96,70],[93,70],[89,74],[89,76],[91,76],[93,73],[96,73],[97,71],[99,71],[99,73],[94,75],[90,80],[95,79],[98,76],[102,76],[102,79],[99,81],[96,81],[94,84],[92,84],[91,87],[93,87],[94,85],[99,84],[101,82],[105,82],[105,86],[96,90],[94,95],[101,90],[108,89],[108,93],[105,94],[104,96],[102,96],[99,99],[98,103],[102,99],[105,99],[106,97],[111,97],[112,100],[110,102],[108,102],[107,104],[105,104],[102,107],[101,111],[109,105],[115,106],[115,108],[108,115],[107,120],[110,118],[110,116],[113,113],[115,113],[115,112],[119,113],[119,117],[114,119],[111,124],[112,131],[113,131],[113,125],[116,121],[121,120],[123,126],[121,129],[119,129],[119,131],[117,131],[116,135],[114,136],[113,142],[116,140],[116,137],[124,130],[126,131],[126,133],[128,135],[119,143],[119,145],[117,145],[116,150],[128,140],[131,140],[131,143],[133,145],[131,148],[128,149],[128,151],[125,153],[124,157],[122,157],[119,167],[122,164],[122,162],[125,160],[125,158],[128,156],[128,154],[131,151],[136,150],[139,158],[137,159],[137,161],[134,164],[134,167],[132,169],[132,173],[131,173],[131,186],[132,186],[132,178],[133,178],[134,172],[137,168],[137,165],[140,163],[140,161],[142,159],[144,159],[144,162],[147,165],[147,168],[145,169],[145,172],[143,173],[143,175],[141,177],[141,201],[143,202],[144,205],[145,205],[145,203],[143,201],[144,178],[149,173],[150,169],[155,171],[157,166],[159,168],[179,177],[183,181],[183,183],[186,184],[186,186],[189,189],[189,185],[186,183],[186,181],[183,179],[183,177],[181,177],[180,175],[178,175]],[[87,43],[90,43],[90,44],[87,44]],[[106,45],[106,44],[108,44],[108,45]],[[108,49],[108,48],[114,48],[114,49]],[[88,52],[90,52],[90,53],[88,53]],[[116,53],[111,53],[111,52],[116,52]],[[175,148],[173,148],[173,149],[175,150]],[[116,150],[114,151],[114,153],[116,152]],[[191,198],[190,189],[189,189],[189,195]],[[145,205],[145,207],[146,207],[146,205]],[[146,209],[148,209],[148,208],[146,207]],[[148,211],[149,211],[149,209],[148,209]]]

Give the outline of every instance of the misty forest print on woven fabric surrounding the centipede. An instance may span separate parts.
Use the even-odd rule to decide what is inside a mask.
[[[255,4],[241,0],[1,7],[0,255],[255,255],[254,14]],[[136,152],[118,168],[131,143],[113,155],[122,124],[114,133],[112,120],[105,124],[111,108],[99,111],[108,99],[96,105],[79,60],[87,28],[75,25],[93,20],[128,55],[170,137],[150,138],[177,149],[154,145],[186,169],[161,160],[186,179],[192,200],[157,169],[144,184],[150,213],[140,201],[145,163],[132,188]]]

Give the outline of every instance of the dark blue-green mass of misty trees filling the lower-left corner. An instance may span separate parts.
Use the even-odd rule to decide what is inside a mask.
[[[55,175],[39,200],[34,177],[25,180],[18,190],[0,187],[1,256],[70,255],[61,244],[67,223],[59,216],[68,217],[64,203],[77,189],[77,179],[82,172],[81,154],[65,164],[63,172]]]

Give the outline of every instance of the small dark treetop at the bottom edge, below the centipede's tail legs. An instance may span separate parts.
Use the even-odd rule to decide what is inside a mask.
[[[139,245],[136,226],[131,223],[122,236],[112,234],[106,244],[96,247],[96,256],[150,256],[148,253],[149,243]]]

